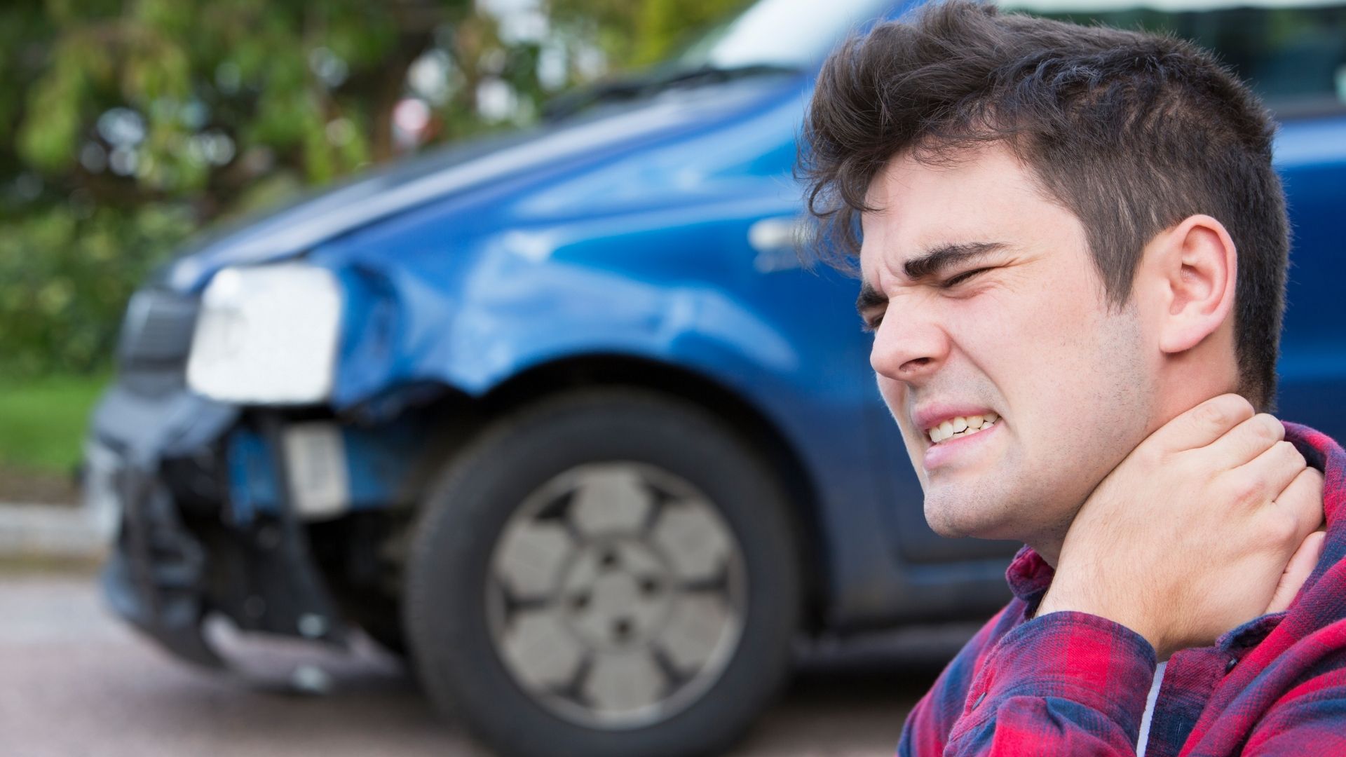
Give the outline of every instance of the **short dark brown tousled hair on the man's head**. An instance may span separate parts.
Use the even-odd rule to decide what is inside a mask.
[[[1155,234],[1198,213],[1218,218],[1238,249],[1240,391],[1265,407],[1289,248],[1273,132],[1248,88],[1187,42],[953,0],[828,58],[800,166],[818,255],[853,272],[859,214],[874,210],[865,193],[888,160],[952,160],[1003,143],[1081,220],[1119,307]]]

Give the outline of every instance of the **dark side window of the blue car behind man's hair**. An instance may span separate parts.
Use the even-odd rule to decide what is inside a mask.
[[[1342,0],[1004,0],[1001,8],[1167,31],[1214,50],[1279,114],[1346,110]]]

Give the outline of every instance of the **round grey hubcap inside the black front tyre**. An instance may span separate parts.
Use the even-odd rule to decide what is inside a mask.
[[[747,605],[717,508],[645,463],[573,467],[505,525],[487,582],[491,640],[514,680],[590,727],[639,727],[724,671]]]

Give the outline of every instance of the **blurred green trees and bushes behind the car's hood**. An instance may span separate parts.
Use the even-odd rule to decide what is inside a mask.
[[[549,0],[528,36],[472,0],[7,0],[0,376],[102,369],[175,246],[415,147],[393,119],[409,94],[429,110],[417,144],[528,124],[742,5]]]

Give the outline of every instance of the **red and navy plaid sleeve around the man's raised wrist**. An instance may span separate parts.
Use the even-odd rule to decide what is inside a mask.
[[[944,754],[1135,754],[1154,675],[1154,648],[1123,625],[1075,612],[1034,618],[976,671]]]

